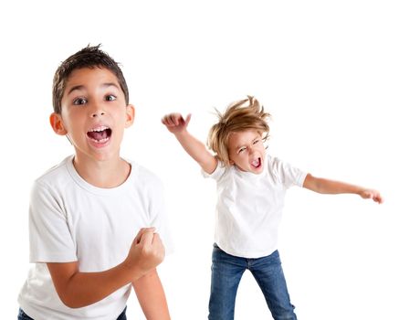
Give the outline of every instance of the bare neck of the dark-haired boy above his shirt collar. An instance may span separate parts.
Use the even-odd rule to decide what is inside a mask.
[[[131,173],[131,165],[121,157],[96,161],[75,155],[73,165],[79,176],[94,187],[118,187]]]

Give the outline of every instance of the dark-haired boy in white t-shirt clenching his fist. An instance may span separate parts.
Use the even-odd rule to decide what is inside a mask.
[[[50,123],[75,155],[32,189],[35,266],[18,297],[18,319],[126,319],[131,286],[148,319],[170,319],[156,271],[165,251],[160,235],[169,245],[162,186],[120,155],[134,120],[128,103],[121,69],[100,46],[58,67]]]

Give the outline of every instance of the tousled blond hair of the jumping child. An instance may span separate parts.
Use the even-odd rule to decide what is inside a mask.
[[[270,114],[252,96],[231,103],[223,114],[216,110],[216,114],[219,121],[211,127],[207,145],[224,165],[230,165],[227,148],[230,133],[253,129],[262,135],[264,141],[268,139],[267,119]]]

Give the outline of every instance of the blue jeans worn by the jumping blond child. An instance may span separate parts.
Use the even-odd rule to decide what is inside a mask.
[[[236,291],[243,273],[252,272],[275,320],[296,320],[294,305],[281,268],[278,251],[267,257],[247,259],[232,256],[214,245],[209,320],[232,320]]]

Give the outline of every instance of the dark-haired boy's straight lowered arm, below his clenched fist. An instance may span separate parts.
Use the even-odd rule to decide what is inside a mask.
[[[156,269],[132,283],[142,312],[148,320],[170,320],[163,285]]]

